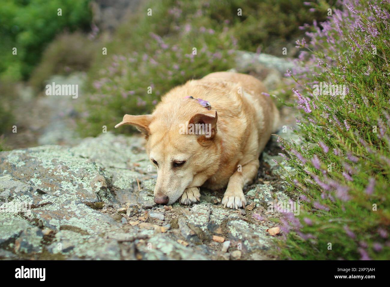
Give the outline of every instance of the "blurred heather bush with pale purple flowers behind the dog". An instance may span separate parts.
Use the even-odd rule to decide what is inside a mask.
[[[280,56],[289,38],[302,34],[299,26],[325,9],[316,7],[317,12],[310,12],[296,0],[145,2],[102,46],[107,55],[94,61],[90,95],[80,107],[86,111],[79,122],[83,134],[97,135],[126,113],[150,112],[161,95],[191,78],[234,68],[235,50]]]

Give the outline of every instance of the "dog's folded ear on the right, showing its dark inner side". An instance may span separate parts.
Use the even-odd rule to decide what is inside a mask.
[[[191,117],[188,124],[204,124],[204,130],[202,134],[198,134],[198,143],[202,145],[207,145],[210,143],[210,140],[213,139],[217,133],[217,120],[218,114],[216,111],[207,111],[202,114],[195,114]],[[207,127],[206,127],[207,125]]]

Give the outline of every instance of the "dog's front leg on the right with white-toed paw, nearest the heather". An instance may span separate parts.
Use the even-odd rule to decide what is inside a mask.
[[[243,193],[243,187],[252,181],[259,169],[259,160],[252,160],[242,167],[241,171],[236,171],[229,178],[229,183],[222,198],[223,207],[239,209],[245,207],[246,199]]]

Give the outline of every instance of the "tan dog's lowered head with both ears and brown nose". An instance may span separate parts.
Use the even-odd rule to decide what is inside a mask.
[[[203,108],[176,115],[162,108],[151,115],[125,115],[115,126],[134,125],[145,134],[147,153],[158,170],[154,202],[172,204],[184,189],[199,186],[193,182],[196,175],[215,172],[220,154],[215,144],[217,119],[216,111]]]

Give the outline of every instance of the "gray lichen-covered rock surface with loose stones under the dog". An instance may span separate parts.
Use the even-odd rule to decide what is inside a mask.
[[[103,134],[72,148],[46,145],[0,153],[2,259],[272,259],[266,231],[286,199],[277,143],[246,187],[247,210],[225,209],[223,191],[201,189],[191,206],[153,202],[156,170],[141,137]],[[263,182],[266,181],[266,182]],[[252,216],[264,217],[260,221]],[[230,244],[213,241],[213,235]],[[240,252],[236,252],[240,251]]]

